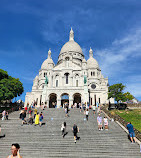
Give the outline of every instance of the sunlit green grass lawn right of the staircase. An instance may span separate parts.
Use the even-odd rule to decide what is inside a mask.
[[[121,116],[127,122],[131,122],[134,128],[141,132],[141,110],[116,110],[116,114]]]

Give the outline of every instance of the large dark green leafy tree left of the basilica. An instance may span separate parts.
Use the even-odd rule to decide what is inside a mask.
[[[8,73],[0,69],[0,102],[3,100],[11,100],[23,93],[23,84]]]

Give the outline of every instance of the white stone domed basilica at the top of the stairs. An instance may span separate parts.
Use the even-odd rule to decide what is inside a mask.
[[[60,107],[63,104],[61,100],[68,101],[70,107],[75,102],[89,102],[90,105],[96,102],[106,103],[108,78],[101,74],[91,48],[89,56],[86,61],[81,47],[74,41],[74,32],[71,29],[69,41],[62,47],[56,65],[51,58],[51,50],[48,51],[48,58],[33,81],[32,92],[26,93],[25,106],[34,101],[38,106],[43,102],[48,107],[52,107],[53,102]],[[48,84],[45,84],[46,77]],[[87,78],[85,84],[84,77]],[[63,95],[68,100],[63,99]]]

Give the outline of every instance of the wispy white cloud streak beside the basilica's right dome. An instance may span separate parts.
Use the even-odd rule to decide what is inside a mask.
[[[141,28],[130,31],[119,40],[114,40],[110,48],[97,50],[96,55],[105,74],[116,75],[134,57],[141,57]],[[128,69],[128,68],[127,68]],[[126,69],[126,71],[127,71]]]

